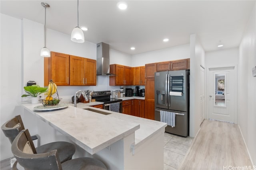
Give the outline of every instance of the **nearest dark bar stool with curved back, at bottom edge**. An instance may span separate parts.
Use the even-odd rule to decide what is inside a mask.
[[[60,163],[58,150],[36,154],[28,129],[22,130],[12,143],[12,154],[18,163],[30,170],[106,170],[106,166],[94,158],[75,158]]]

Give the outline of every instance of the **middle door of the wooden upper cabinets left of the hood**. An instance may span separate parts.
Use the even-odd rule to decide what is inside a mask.
[[[70,85],[84,85],[84,58],[70,55]]]

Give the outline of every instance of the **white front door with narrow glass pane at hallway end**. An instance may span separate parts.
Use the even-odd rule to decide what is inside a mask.
[[[237,123],[237,66],[207,69],[207,118]]]

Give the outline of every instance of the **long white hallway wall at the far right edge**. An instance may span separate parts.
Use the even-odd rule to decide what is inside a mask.
[[[256,12],[255,6],[248,20],[239,46],[238,64],[238,125],[253,164],[256,164]]]

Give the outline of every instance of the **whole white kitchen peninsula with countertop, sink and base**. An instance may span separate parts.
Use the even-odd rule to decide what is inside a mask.
[[[36,122],[34,129],[25,127],[40,136],[41,144],[70,141],[76,144],[73,158],[94,157],[108,169],[163,169],[166,123],[80,103],[55,111],[34,111],[39,105],[21,104],[25,119]]]

